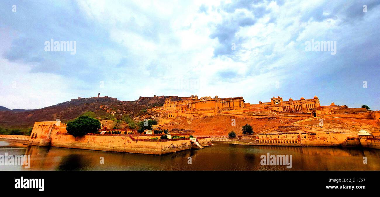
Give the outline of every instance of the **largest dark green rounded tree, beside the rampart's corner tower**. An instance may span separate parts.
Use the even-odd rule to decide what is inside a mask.
[[[74,137],[84,136],[87,133],[97,133],[100,121],[88,116],[80,116],[66,125],[67,132]]]

